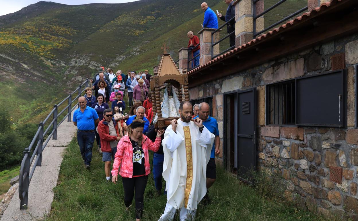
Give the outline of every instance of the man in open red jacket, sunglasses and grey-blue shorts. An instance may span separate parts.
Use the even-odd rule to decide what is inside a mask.
[[[105,173],[107,182],[111,181],[111,160],[117,152],[117,144],[121,139],[116,121],[112,119],[112,109],[103,111],[103,120],[98,123],[98,134],[101,138],[102,161],[105,162]]]

